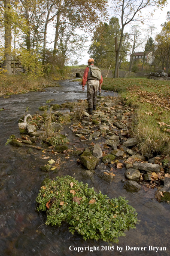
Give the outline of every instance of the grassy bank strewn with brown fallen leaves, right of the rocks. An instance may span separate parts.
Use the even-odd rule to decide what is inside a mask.
[[[136,108],[132,131],[141,153],[170,154],[170,81],[104,78],[102,89]]]

